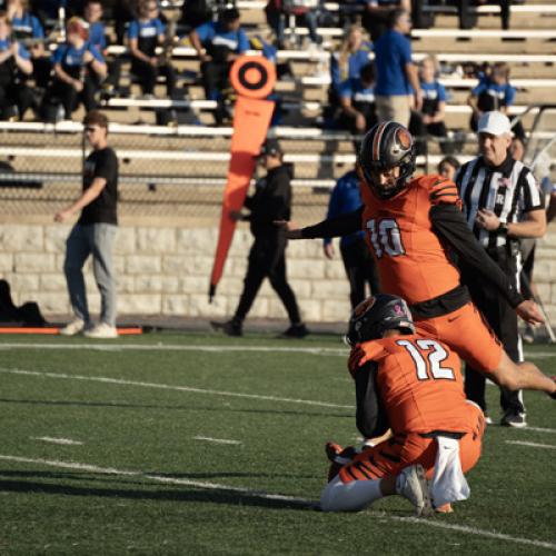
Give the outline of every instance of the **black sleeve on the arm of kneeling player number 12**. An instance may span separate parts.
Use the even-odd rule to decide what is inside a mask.
[[[376,361],[367,361],[355,374],[356,424],[365,438],[383,436],[389,428],[388,415],[380,401],[377,387]]]

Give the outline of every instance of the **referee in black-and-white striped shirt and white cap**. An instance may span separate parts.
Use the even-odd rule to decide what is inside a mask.
[[[479,156],[464,165],[456,185],[464,212],[473,232],[487,254],[519,287],[522,238],[539,238],[546,231],[543,198],[532,171],[514,160],[509,120],[502,112],[485,112],[477,128]],[[502,340],[509,357],[523,361],[517,315],[498,290],[476,272],[461,268],[464,282],[486,320]],[[486,411],[485,377],[466,367],[467,397]],[[504,416],[500,424],[525,427],[526,416],[520,391],[500,391]],[[488,417],[487,417],[488,419]]]

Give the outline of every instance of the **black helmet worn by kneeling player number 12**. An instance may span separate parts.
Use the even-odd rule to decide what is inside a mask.
[[[346,341],[355,346],[363,341],[376,340],[393,328],[415,334],[414,320],[406,301],[386,294],[370,296],[351,312]]]

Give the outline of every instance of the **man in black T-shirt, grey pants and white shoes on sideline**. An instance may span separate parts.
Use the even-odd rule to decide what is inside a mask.
[[[85,120],[85,133],[92,152],[83,167],[83,191],[79,199],[54,216],[63,222],[81,210],[66,250],[63,270],[71,307],[76,318],[60,334],[73,336],[83,331],[89,338],[116,338],[116,284],[112,267],[112,246],[118,225],[118,158],[108,147],[108,118],[93,110]],[[87,305],[82,268],[92,255],[92,271],[100,291],[100,322],[92,327]]]

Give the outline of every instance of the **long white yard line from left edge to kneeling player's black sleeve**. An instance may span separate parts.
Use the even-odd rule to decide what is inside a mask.
[[[209,396],[228,396],[232,398],[248,398],[248,399],[264,399],[267,401],[284,401],[286,404],[302,404],[307,406],[318,407],[334,407],[337,409],[353,409],[354,406],[344,406],[340,404],[330,404],[328,401],[316,401],[312,399],[296,399],[296,398],[280,398],[277,396],[262,396],[259,394],[244,394],[238,391],[224,391],[224,390],[208,390],[203,388],[191,388],[189,386],[173,386],[158,383],[141,383],[139,380],[123,380],[121,378],[110,377],[87,377],[82,375],[66,375],[63,373],[40,373],[38,370],[23,370],[23,369],[6,369],[0,368],[0,373],[10,375],[27,375],[44,378],[58,378],[63,380],[87,380],[92,383],[117,384],[121,386],[139,386],[142,388],[159,388],[162,390],[188,391],[191,394],[203,394]]]

